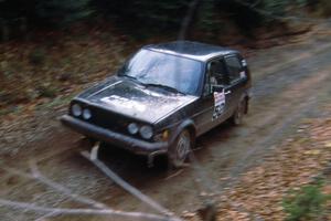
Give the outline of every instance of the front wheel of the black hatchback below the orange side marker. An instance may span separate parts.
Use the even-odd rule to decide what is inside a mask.
[[[169,148],[168,161],[170,168],[181,168],[192,150],[192,137],[188,129],[183,129],[174,144]]]

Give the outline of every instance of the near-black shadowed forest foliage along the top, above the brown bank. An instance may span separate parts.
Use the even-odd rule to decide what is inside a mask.
[[[87,17],[106,18],[130,33],[167,35],[178,31],[192,0],[0,0],[0,36],[14,27],[63,28]],[[318,3],[316,3],[318,2]],[[201,0],[191,27],[207,34],[222,22],[250,35],[256,27],[278,22],[293,8],[317,8],[327,0]],[[324,10],[325,11],[325,10]],[[328,14],[323,11],[323,14]],[[19,25],[15,23],[20,19]],[[281,19],[279,19],[281,20]],[[221,22],[222,21],[222,22]],[[11,24],[15,23],[15,24]],[[224,22],[223,22],[224,23]],[[191,28],[190,27],[190,28]]]

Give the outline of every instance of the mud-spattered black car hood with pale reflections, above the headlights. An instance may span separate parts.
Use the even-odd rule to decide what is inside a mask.
[[[197,97],[146,87],[134,80],[115,76],[85,91],[77,98],[139,120],[156,123]]]

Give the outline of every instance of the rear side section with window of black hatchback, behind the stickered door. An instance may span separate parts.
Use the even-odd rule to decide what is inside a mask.
[[[224,61],[228,78],[228,110],[233,113],[245,92],[247,73],[245,72],[242,61],[237,54],[226,55]]]

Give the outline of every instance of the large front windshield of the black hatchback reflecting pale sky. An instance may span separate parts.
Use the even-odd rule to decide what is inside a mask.
[[[202,76],[202,63],[171,54],[140,50],[119,70],[145,85],[174,88],[184,94],[196,95]]]

